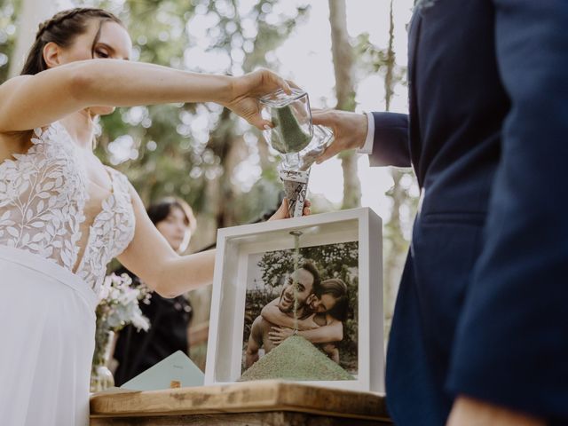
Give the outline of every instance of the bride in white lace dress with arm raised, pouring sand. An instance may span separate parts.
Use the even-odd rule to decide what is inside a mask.
[[[262,129],[256,98],[289,91],[267,70],[198,75],[130,62],[130,51],[114,15],[60,12],[40,26],[22,75],[0,86],[2,424],[88,424],[94,308],[113,257],[162,296],[212,280],[213,252],[178,256],[126,177],[92,153],[93,116],[212,101]]]

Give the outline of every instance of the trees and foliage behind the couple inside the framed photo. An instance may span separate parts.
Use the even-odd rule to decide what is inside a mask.
[[[351,375],[358,375],[359,243],[354,241],[304,247],[300,248],[299,255],[298,265],[301,267],[304,262],[310,262],[319,271],[322,281],[338,278],[347,285],[349,307],[343,321],[343,340],[336,343],[336,347],[341,367]],[[247,349],[252,323],[264,306],[280,297],[282,290],[288,286],[290,272],[294,271],[295,253],[294,250],[268,251],[262,255],[251,255],[249,262],[255,262],[254,269],[260,273],[252,275],[255,277],[254,282],[247,283],[242,334],[243,368],[244,351]]]

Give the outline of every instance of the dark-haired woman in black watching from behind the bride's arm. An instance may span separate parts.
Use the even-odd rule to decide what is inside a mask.
[[[147,213],[171,248],[179,254],[184,253],[197,225],[189,204],[177,198],[167,198],[150,205]],[[124,267],[114,273],[127,273],[134,286],[144,285]],[[148,304],[140,304],[140,309],[149,319],[150,329],[138,331],[128,326],[118,335],[114,347],[114,359],[118,361],[114,372],[116,386],[128,382],[175,351],[189,351],[187,329],[193,312],[186,296],[170,299],[154,292]]]

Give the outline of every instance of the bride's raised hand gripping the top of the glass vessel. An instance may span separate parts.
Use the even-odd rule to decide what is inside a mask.
[[[264,126],[270,126],[271,122],[263,120],[260,115],[258,98],[279,89],[290,94],[290,84],[280,75],[264,68],[232,78],[230,99],[224,103],[224,106],[233,113],[241,115],[242,118],[260,130],[264,130]]]

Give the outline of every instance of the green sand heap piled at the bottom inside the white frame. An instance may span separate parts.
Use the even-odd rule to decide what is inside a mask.
[[[258,359],[241,375],[239,382],[262,379],[296,381],[355,380],[300,335],[288,337]]]

